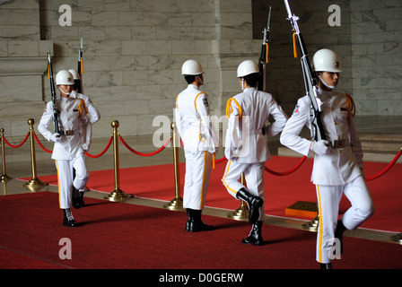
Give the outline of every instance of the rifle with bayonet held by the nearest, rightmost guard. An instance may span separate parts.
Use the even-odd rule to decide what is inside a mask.
[[[311,127],[311,137],[316,141],[325,140],[325,132],[324,126],[322,126],[321,122],[321,105],[322,101],[318,97],[318,86],[317,86],[317,75],[313,73],[310,60],[307,54],[306,46],[304,45],[303,38],[301,36],[301,32],[299,29],[299,25],[297,21],[299,17],[292,14],[291,8],[289,6],[288,0],[284,0],[284,5],[286,6],[286,11],[288,14],[287,20],[291,22],[292,30],[293,30],[293,54],[294,57],[297,58],[297,48],[296,48],[296,39],[299,42],[299,48],[301,50],[301,70],[303,74],[304,86],[306,88],[306,94],[310,98],[311,106],[314,110],[314,115],[312,118],[312,127]]]

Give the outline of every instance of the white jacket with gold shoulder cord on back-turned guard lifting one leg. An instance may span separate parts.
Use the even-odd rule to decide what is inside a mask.
[[[269,115],[275,122],[266,126]],[[263,128],[265,134],[275,136],[283,130],[287,116],[270,93],[245,89],[228,100],[226,116],[229,117],[225,139],[228,160],[255,163],[271,158]]]

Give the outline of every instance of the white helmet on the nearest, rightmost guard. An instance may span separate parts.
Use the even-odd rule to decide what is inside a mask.
[[[314,54],[312,65],[315,72],[342,72],[340,57],[328,48],[320,49]]]

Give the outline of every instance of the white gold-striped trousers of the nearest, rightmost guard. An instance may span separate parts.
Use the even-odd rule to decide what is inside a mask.
[[[316,260],[319,263],[330,263],[336,256],[334,254],[336,252],[334,237],[342,193],[352,204],[342,217],[342,222],[348,230],[355,230],[367,220],[374,213],[374,205],[362,176],[354,178],[343,186],[317,185],[316,190],[319,205]],[[340,254],[338,255],[340,256]]]

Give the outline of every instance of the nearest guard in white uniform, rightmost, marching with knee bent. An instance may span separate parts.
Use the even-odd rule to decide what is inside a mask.
[[[342,72],[340,58],[332,50],[320,49],[312,62],[319,77],[326,140],[314,142],[299,136],[303,126],[311,129],[310,99],[304,96],[298,100],[280,141],[303,155],[315,153],[311,181],[316,185],[319,206],[316,259],[322,269],[332,269],[332,260],[343,251],[344,230],[356,229],[371,216],[374,207],[363,175],[362,146],[352,118],[353,100],[333,91]],[[343,193],[352,206],[338,220]]]

